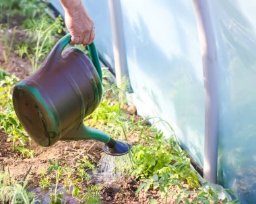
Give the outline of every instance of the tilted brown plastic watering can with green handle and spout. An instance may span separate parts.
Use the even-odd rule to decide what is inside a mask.
[[[102,71],[96,46],[88,46],[90,58],[71,47],[67,34],[51,50],[42,66],[13,89],[15,113],[40,146],[51,146],[58,140],[98,140],[104,142],[106,154],[127,154],[131,145],[114,140],[108,134],[86,127],[90,115],[102,97]]]

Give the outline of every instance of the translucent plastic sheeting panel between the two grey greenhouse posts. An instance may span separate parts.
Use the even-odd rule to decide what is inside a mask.
[[[204,94],[191,1],[121,1],[135,105],[172,125],[183,148],[203,165]],[[158,119],[155,119],[157,121]],[[166,136],[166,123],[158,124]]]

